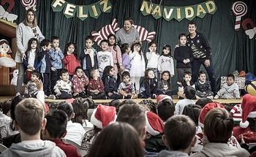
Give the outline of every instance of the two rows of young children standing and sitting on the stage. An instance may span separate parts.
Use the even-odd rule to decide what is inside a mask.
[[[198,82],[192,83],[192,50],[186,45],[186,34],[180,34],[178,39],[180,45],[174,52],[177,61],[178,96],[185,98],[184,88],[189,85],[197,90],[195,98],[213,99],[214,93],[211,92],[210,82],[206,80],[206,72],[199,72]],[[173,95],[171,77],[174,75],[174,66],[170,45],[164,45],[162,55],[159,55],[157,42],[150,42],[146,64],[140,41],[135,41],[132,47],[126,43],[119,47],[116,45],[115,35],[110,34],[108,40],[103,39],[99,43],[99,52],[92,47],[93,37],[86,37],[85,42],[86,48],[78,55],[78,47],[72,42],[67,43],[62,52],[58,37],[52,37],[51,41],[43,39],[40,52],[37,39],[30,39],[29,48],[26,50],[27,58],[23,60],[27,82],[24,96],[37,95],[34,77],[42,77],[45,98],[50,99],[88,96],[92,99],[156,99],[159,94]],[[122,83],[117,81],[118,74]],[[158,79],[159,76],[161,78]],[[141,77],[144,79],[140,86]],[[223,88],[229,90],[219,91],[215,99],[240,98],[234,77],[230,76],[228,79],[228,84]],[[230,85],[233,85],[232,88]]]

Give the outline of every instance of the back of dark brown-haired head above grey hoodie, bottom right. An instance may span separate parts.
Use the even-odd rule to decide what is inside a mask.
[[[227,143],[232,135],[234,120],[225,108],[218,107],[207,113],[203,125],[209,142]]]

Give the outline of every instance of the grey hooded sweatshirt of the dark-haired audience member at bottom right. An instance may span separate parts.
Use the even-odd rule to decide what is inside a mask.
[[[235,148],[232,145],[228,145],[227,143],[208,143],[205,145],[203,150],[192,155],[195,156],[239,156],[239,157],[247,157],[249,156],[249,152],[244,148]]]

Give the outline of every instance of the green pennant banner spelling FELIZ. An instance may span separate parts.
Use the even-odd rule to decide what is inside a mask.
[[[64,0],[53,0],[51,7],[53,12],[61,12],[64,9],[66,18],[75,17],[76,14],[80,20],[86,20],[89,15],[97,19],[102,12],[111,12],[112,4],[110,0],[101,0],[90,5],[76,5]]]

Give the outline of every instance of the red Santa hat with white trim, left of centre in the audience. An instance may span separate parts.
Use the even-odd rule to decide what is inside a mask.
[[[104,129],[116,121],[116,108],[99,104],[92,112],[91,123],[99,129]]]

